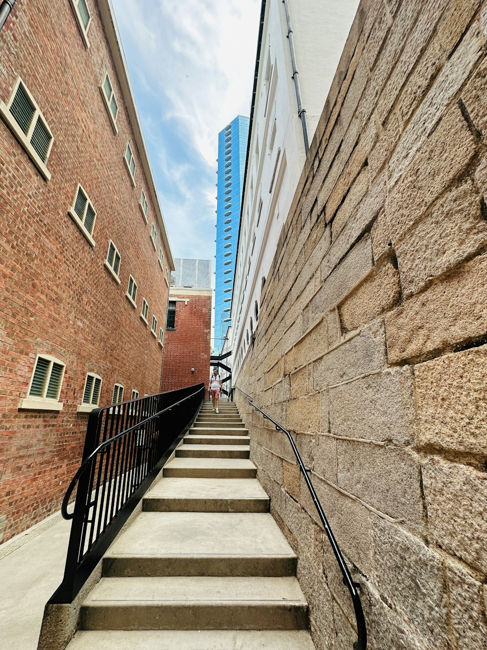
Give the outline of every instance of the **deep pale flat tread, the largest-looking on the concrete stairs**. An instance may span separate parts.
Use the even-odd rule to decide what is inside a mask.
[[[266,512],[142,512],[105,557],[121,555],[295,557]]]

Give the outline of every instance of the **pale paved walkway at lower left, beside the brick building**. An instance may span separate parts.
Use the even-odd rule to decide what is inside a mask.
[[[56,513],[0,545],[2,650],[36,650],[45,603],[64,573],[70,528]]]

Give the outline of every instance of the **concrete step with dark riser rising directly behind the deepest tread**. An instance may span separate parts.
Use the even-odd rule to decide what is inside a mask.
[[[268,512],[256,478],[162,478],[144,497],[146,512]]]

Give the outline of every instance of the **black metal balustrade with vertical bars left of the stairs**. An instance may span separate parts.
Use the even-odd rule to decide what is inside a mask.
[[[194,421],[204,397],[205,385],[199,383],[90,413],[82,463],[61,507],[64,519],[73,519],[64,578],[49,603],[73,601]]]

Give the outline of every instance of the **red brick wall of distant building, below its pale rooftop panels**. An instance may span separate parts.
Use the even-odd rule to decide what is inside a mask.
[[[177,300],[175,330],[166,330],[162,391],[199,382],[206,385],[210,378],[212,297],[171,292],[169,300],[175,298],[185,298],[188,304]]]

